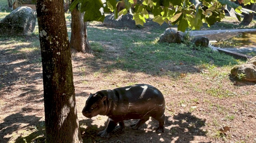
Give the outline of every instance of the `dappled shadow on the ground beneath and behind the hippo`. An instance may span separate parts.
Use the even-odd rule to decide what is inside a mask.
[[[81,120],[80,130],[82,133],[83,142],[137,142],[138,140],[144,142],[175,142],[175,143],[187,143],[194,141],[195,136],[206,136],[206,131],[202,130],[205,126],[205,120],[199,119],[191,113],[178,113],[177,115],[166,116],[166,132],[156,133],[155,129],[158,127],[158,121],[152,119],[146,122],[142,128],[146,130],[133,130],[129,125],[137,122],[137,120],[126,120],[125,131],[123,133],[118,131],[111,132],[110,138],[101,138],[97,133],[104,130],[108,121],[99,127],[93,123],[95,120],[87,119]],[[205,143],[205,142],[200,142]],[[207,142],[210,143],[210,142]]]

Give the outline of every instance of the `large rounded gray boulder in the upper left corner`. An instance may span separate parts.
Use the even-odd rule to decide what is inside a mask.
[[[30,35],[35,28],[37,15],[28,6],[21,6],[0,21],[0,35]]]

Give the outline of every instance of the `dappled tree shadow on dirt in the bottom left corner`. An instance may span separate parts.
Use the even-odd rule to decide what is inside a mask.
[[[16,143],[24,141],[31,142],[35,138],[42,136],[44,121],[40,121],[40,119],[41,117],[24,115],[22,113],[9,115],[0,124],[0,142],[9,142],[14,136],[19,136],[15,140]],[[29,135],[26,136],[27,134]]]

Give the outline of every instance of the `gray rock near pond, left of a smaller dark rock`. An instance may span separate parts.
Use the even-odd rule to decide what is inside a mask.
[[[181,43],[184,41],[184,36],[184,32],[167,28],[165,32],[161,34],[159,42]]]

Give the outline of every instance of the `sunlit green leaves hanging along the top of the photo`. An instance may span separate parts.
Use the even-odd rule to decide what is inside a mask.
[[[117,4],[119,2],[123,2],[125,8],[118,12]],[[246,5],[255,3],[255,0],[240,0],[239,2]],[[198,30],[203,23],[210,26],[216,21],[221,21],[225,16],[224,10],[227,10],[228,6],[236,13],[238,19],[242,12],[253,12],[230,0],[137,0],[134,10],[131,10],[133,3],[133,0],[75,0],[70,6],[70,10],[79,8],[81,12],[85,12],[85,21],[101,22],[105,18],[104,12],[113,12],[115,18],[129,12],[133,15],[136,25],[142,26],[149,18],[148,13],[150,12],[154,15],[154,22],[160,25],[163,22],[177,24],[178,30],[183,32],[186,28]]]

